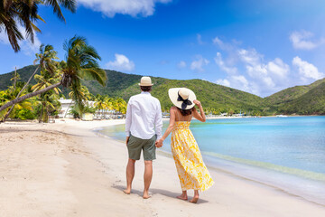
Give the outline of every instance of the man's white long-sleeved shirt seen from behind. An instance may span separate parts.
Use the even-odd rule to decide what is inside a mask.
[[[131,97],[127,103],[125,133],[134,137],[149,139],[162,137],[163,118],[160,101],[149,92]]]

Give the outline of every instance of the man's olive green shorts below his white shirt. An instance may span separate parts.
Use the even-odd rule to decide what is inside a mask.
[[[156,136],[149,139],[142,139],[131,135],[127,142],[129,158],[140,160],[141,150],[144,150],[144,160],[152,161],[155,159],[155,141]]]

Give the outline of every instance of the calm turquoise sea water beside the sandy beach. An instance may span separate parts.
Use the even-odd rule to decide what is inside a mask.
[[[194,120],[190,129],[210,168],[325,205],[325,117]],[[125,140],[124,125],[100,133]]]

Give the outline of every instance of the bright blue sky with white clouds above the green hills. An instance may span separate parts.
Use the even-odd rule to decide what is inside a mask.
[[[322,0],[79,0],[60,22],[46,24],[34,44],[14,53],[0,33],[0,73],[32,64],[41,44],[64,59],[63,42],[84,36],[104,69],[169,79],[202,79],[268,96],[325,76]]]

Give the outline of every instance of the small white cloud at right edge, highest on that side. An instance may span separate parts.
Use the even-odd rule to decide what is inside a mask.
[[[301,50],[312,50],[321,44],[325,43],[325,39],[322,38],[319,41],[311,41],[311,38],[313,37],[313,33],[307,32],[307,31],[301,31],[301,32],[293,32],[290,35],[290,41],[292,42],[292,46],[295,49],[301,49]]]

